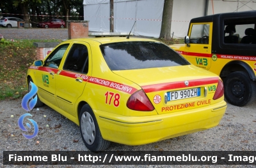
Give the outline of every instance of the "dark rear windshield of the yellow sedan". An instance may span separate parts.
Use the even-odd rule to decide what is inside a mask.
[[[112,71],[189,65],[186,59],[163,43],[109,43],[100,45],[100,50]]]

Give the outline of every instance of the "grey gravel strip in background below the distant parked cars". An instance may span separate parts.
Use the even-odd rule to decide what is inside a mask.
[[[0,28],[5,39],[68,39],[68,29]]]

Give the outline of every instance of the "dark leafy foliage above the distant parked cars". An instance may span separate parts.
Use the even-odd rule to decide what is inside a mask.
[[[3,17],[19,17],[28,23],[28,20],[36,27],[36,23],[48,18],[61,18],[63,20],[83,20],[83,0],[1,0],[1,13],[23,14],[5,15]],[[31,15],[29,17],[29,15]],[[37,16],[35,16],[37,15]],[[44,15],[44,16],[41,16]],[[55,17],[47,15],[54,15]],[[74,17],[56,17],[56,16],[74,16]]]

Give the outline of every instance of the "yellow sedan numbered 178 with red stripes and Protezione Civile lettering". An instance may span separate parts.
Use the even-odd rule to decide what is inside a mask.
[[[153,39],[64,41],[29,67],[27,81],[38,87],[36,107],[79,125],[91,151],[210,129],[227,108],[219,76]]]

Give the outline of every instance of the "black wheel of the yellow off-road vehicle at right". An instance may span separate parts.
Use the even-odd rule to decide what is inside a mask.
[[[256,83],[248,73],[230,73],[224,80],[224,94],[230,104],[245,106],[256,100]]]

